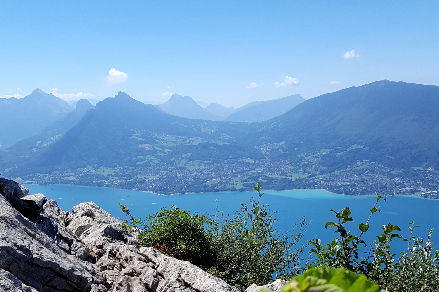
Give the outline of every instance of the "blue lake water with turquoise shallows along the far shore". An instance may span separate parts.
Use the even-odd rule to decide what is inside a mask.
[[[74,205],[81,202],[93,201],[116,218],[122,216],[119,203],[130,208],[131,213],[144,219],[145,216],[157,212],[163,207],[170,208],[177,205],[180,209],[213,213],[216,202],[219,200],[219,209],[227,213],[241,208],[241,202],[247,202],[257,193],[253,192],[216,192],[186,195],[162,196],[130,190],[120,190],[105,187],[79,187],[71,185],[36,185],[26,184],[30,194],[43,193],[47,198],[58,202],[61,209],[71,212]],[[286,190],[264,191],[261,202],[268,203],[271,210],[277,211],[278,231],[291,230],[295,223],[300,222],[302,216],[312,220],[306,228],[305,238],[313,238],[318,234],[322,242],[330,242],[337,237],[330,228],[325,229],[327,221],[335,221],[334,213],[329,209],[341,210],[349,207],[353,213],[354,222],[350,223],[350,230],[357,234],[358,224],[366,223],[373,207],[375,196],[345,196],[323,190]],[[414,196],[387,197],[387,202],[381,200],[377,207],[380,213],[375,213],[369,222],[371,227],[363,235],[366,242],[373,242],[375,235],[381,234],[382,224],[399,225],[401,234],[407,238],[408,223],[415,221],[421,228],[417,228],[414,236],[426,237],[427,229],[439,227],[439,200],[425,199]],[[349,226],[349,225],[348,225]],[[433,239],[438,236],[433,235]],[[305,243],[305,242],[303,242]],[[439,245],[433,245],[439,246]],[[392,245],[393,252],[399,253],[407,249],[405,242],[396,239]]]

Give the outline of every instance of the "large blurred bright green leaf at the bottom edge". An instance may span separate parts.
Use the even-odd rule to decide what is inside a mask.
[[[315,287],[315,288],[314,288]],[[312,268],[282,287],[280,292],[379,292],[378,285],[364,275],[329,267]]]

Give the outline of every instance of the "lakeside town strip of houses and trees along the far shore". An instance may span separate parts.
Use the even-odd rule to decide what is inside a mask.
[[[148,167],[93,167],[68,172],[38,173],[19,177],[22,183],[72,184],[114,187],[161,195],[190,192],[247,191],[255,184],[264,189],[324,189],[344,195],[418,195],[439,198],[439,172],[434,168],[412,167],[410,172],[376,162],[357,161],[346,169],[324,172],[319,156],[302,159],[255,162],[241,159],[231,164],[186,162],[180,167],[159,160]]]

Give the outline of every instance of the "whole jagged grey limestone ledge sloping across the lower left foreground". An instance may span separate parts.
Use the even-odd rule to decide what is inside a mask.
[[[0,179],[0,185],[8,195],[42,207],[30,221],[0,198],[0,291],[239,292],[190,262],[140,248],[137,238],[94,202],[70,213],[43,194],[28,195],[12,180]],[[276,292],[283,284],[263,287]],[[246,291],[259,288],[253,284]]]

